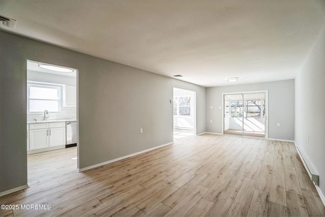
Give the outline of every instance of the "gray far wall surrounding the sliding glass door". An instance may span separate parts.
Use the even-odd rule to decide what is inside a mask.
[[[222,93],[269,90],[269,138],[295,139],[295,80],[206,88],[206,130],[222,134]],[[210,109],[212,106],[212,109]],[[212,123],[210,120],[212,119]],[[280,127],[277,127],[280,123]]]

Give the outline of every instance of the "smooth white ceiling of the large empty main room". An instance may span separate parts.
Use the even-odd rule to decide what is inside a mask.
[[[325,1],[0,0],[0,15],[17,20],[8,32],[222,86],[295,78],[325,25]]]

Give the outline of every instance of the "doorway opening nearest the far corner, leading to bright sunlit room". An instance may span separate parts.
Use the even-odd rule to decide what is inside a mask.
[[[174,140],[196,135],[196,92],[173,89]]]

